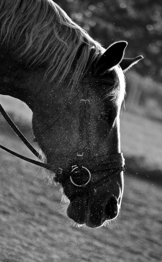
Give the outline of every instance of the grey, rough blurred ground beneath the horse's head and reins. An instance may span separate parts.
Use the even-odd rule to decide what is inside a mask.
[[[59,186],[7,153],[0,169],[0,261],[161,261],[161,187],[125,172],[120,217],[106,227],[68,224]]]

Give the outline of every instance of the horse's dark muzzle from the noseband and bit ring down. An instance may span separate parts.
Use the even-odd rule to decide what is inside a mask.
[[[119,157],[122,154],[119,153]],[[62,184],[70,200],[68,217],[89,227],[102,226],[107,220],[117,217],[123,194],[124,170],[123,162],[115,162],[114,168],[108,171],[99,170],[91,174],[84,166],[81,168],[84,173],[80,173],[78,166],[72,166],[70,179]]]

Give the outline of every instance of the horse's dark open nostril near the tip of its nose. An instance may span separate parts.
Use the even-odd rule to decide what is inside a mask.
[[[118,200],[115,196],[112,196],[109,198],[107,201],[107,204],[105,206],[105,213],[107,215],[107,219],[113,219],[117,216],[118,214]]]

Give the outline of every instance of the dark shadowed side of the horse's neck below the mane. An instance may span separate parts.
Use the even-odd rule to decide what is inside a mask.
[[[42,70],[27,68],[6,49],[1,48],[0,55],[0,94],[20,99],[33,111],[34,97],[44,81]]]

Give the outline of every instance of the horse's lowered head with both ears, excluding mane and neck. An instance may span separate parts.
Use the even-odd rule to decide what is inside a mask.
[[[51,83],[43,95],[40,93],[33,111],[33,132],[46,161],[62,172],[54,179],[70,199],[67,215],[90,227],[117,217],[122,200],[123,172],[99,186],[96,183],[118,170],[117,163],[98,168],[109,157],[113,164],[119,158],[123,165],[118,155],[119,113],[125,94],[123,70],[142,58],[124,59],[126,45],[124,41],[111,45],[74,90],[67,88],[70,76],[55,90]]]

